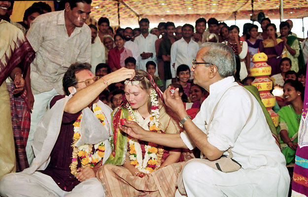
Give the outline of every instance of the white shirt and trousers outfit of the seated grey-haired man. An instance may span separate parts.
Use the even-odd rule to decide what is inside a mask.
[[[242,168],[224,173],[205,164],[189,164],[183,169],[186,192],[188,196],[200,197],[223,196],[223,193],[243,197],[287,196],[290,177],[286,162],[262,108],[255,98],[251,103],[247,92],[234,81],[231,76],[212,84],[209,87],[210,95],[202,103],[193,122],[205,132],[205,122],[208,123],[217,101],[227,88],[236,85],[220,100],[209,126],[207,140],[221,151],[232,148],[233,159]],[[251,104],[253,112],[247,122]],[[181,133],[181,138],[189,149],[195,147],[185,132]]]

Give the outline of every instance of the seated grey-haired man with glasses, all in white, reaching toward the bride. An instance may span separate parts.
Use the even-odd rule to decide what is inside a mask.
[[[178,90],[171,95],[169,88],[164,93],[167,106],[177,114],[185,132],[152,134],[132,122],[123,130],[133,137],[169,147],[197,146],[210,161],[226,155],[231,148],[233,159],[241,165],[237,171],[225,173],[196,159],[184,166],[182,181],[188,197],[286,197],[290,177],[285,159],[258,101],[235,82],[232,49],[222,43],[205,43],[193,67],[194,82],[210,93],[193,121],[181,107]],[[175,196],[181,194],[177,191]]]

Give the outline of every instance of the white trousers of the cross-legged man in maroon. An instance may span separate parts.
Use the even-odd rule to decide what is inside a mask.
[[[71,192],[63,191],[48,175],[10,173],[0,180],[0,195],[3,197],[104,197],[102,183],[90,178],[75,186]]]

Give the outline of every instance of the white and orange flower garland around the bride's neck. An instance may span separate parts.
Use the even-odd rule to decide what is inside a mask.
[[[151,98],[151,116],[150,116],[150,123],[149,123],[149,130],[153,132],[161,132],[159,129],[159,108],[158,108],[158,99],[157,93],[155,90],[151,90],[150,98]],[[131,106],[128,107],[131,116],[129,119],[132,121],[137,122],[138,116],[141,116],[137,109],[133,110]],[[129,159],[131,160],[131,164],[134,165],[140,172],[143,173],[151,173],[161,165],[161,159],[164,153],[163,148],[159,148],[157,144],[148,143],[145,145],[145,154],[144,158],[142,157],[142,150],[141,146],[138,143],[138,140],[128,136],[128,143],[130,147],[130,156]],[[143,159],[142,159],[143,158]]]

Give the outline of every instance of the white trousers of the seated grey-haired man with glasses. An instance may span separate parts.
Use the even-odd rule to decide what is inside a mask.
[[[287,197],[290,177],[285,166],[221,172],[193,162],[182,170],[188,197]],[[175,197],[181,197],[176,191]]]

